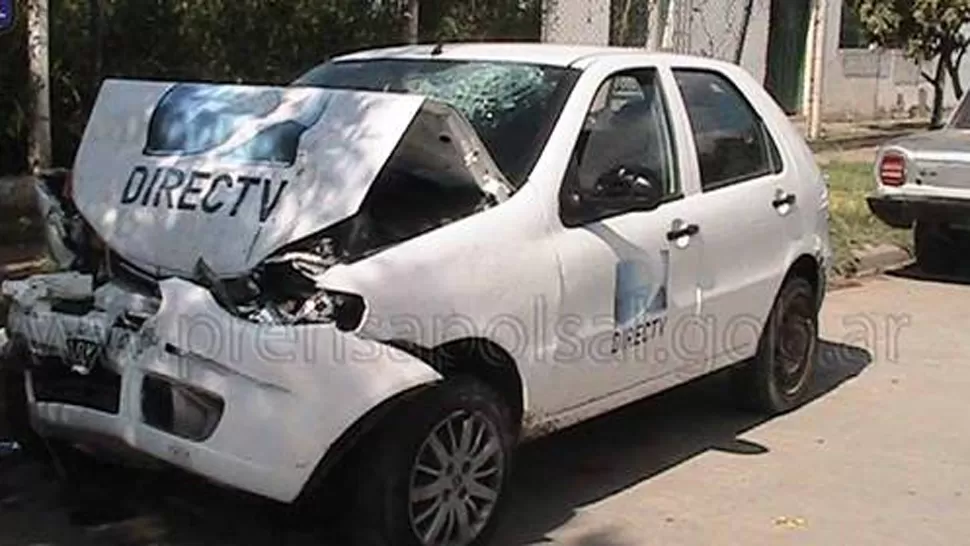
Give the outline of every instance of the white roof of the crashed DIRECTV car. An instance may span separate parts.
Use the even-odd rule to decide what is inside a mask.
[[[433,55],[436,47],[440,53]],[[550,66],[586,68],[598,59],[621,55],[644,56],[649,62],[652,58],[657,64],[679,60],[690,65],[720,65],[720,61],[707,57],[678,55],[674,53],[652,52],[643,48],[597,46],[582,44],[552,44],[531,42],[459,42],[436,44],[417,44],[377,49],[366,49],[341,55],[334,61],[372,60],[372,59],[444,59],[456,61],[508,61],[534,63]]]

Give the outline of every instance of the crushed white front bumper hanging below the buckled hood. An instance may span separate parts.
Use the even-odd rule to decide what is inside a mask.
[[[73,273],[4,284],[6,367],[41,436],[294,500],[351,425],[440,375],[330,325],[254,324],[180,279],[152,298]]]

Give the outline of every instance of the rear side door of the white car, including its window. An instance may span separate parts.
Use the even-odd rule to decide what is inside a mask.
[[[804,230],[796,214],[797,173],[785,168],[766,123],[724,73],[673,68],[701,193],[691,201],[700,226],[702,317],[713,332],[710,368],[754,354],[761,325],[786,273],[787,249]],[[803,196],[803,199],[807,196]]]

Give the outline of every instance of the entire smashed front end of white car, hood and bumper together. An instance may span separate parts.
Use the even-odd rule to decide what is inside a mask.
[[[245,90],[245,108],[263,111],[244,109],[250,117],[238,121],[233,103],[218,124],[233,132],[206,136],[215,146],[185,136],[206,129],[192,125],[204,116],[172,129],[145,107],[171,100],[164,85],[105,84],[73,171],[37,181],[59,271],[3,283],[4,367],[5,377],[20,378],[30,425],[42,435],[147,454],[285,501],[356,419],[440,378],[354,335],[365,296],[328,288],[324,274],[490,208],[511,186],[468,123],[442,104],[273,90],[277,110],[299,114],[304,101],[323,112],[300,118],[294,140],[285,112],[260,102],[265,89]],[[348,119],[341,101],[367,107]],[[382,117],[402,111],[410,113],[396,122]],[[131,116],[140,123],[116,123]],[[174,131],[154,140],[168,148],[147,146],[161,130]],[[266,134],[259,146],[246,144]],[[172,151],[173,143],[183,148]],[[280,183],[267,201],[270,180]],[[247,197],[260,188],[262,203]],[[341,354],[378,356],[338,365]],[[252,443],[256,433],[267,445]]]

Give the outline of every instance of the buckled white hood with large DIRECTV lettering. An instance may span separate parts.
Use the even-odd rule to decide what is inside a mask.
[[[200,258],[219,276],[243,274],[354,215],[416,116],[440,118],[442,106],[403,94],[108,80],[75,160],[73,199],[109,247],[155,275],[191,276]],[[480,148],[467,122],[445,112],[460,143]]]

